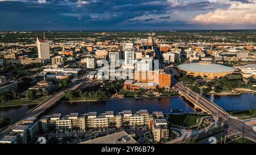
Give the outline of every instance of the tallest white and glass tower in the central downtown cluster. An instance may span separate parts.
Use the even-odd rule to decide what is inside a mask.
[[[134,64],[133,43],[123,43],[123,49],[125,51],[125,65],[133,66]]]

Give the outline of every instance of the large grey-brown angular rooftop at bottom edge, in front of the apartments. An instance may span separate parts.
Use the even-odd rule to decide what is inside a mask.
[[[82,144],[137,144],[137,141],[125,131],[82,142]]]

